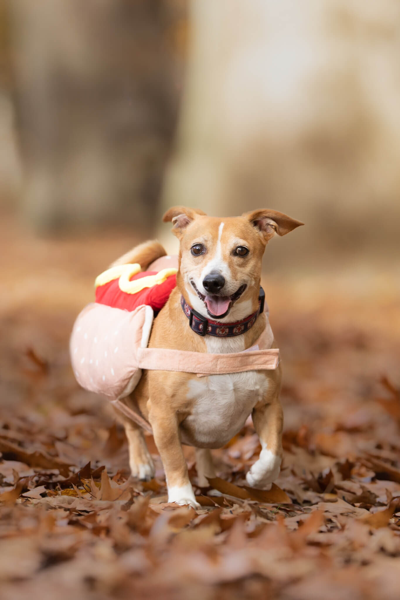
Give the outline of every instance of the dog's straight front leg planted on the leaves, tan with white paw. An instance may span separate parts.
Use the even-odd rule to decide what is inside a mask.
[[[148,407],[154,441],[166,473],[168,502],[200,508],[190,483],[188,467],[179,439],[179,422],[176,414],[166,413],[165,409],[160,410],[160,407],[152,406],[151,401]]]

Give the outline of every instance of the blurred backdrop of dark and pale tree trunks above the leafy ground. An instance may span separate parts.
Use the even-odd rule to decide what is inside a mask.
[[[399,106],[396,0],[0,0],[0,206],[39,235],[267,206],[306,223],[272,269],[393,265]]]

